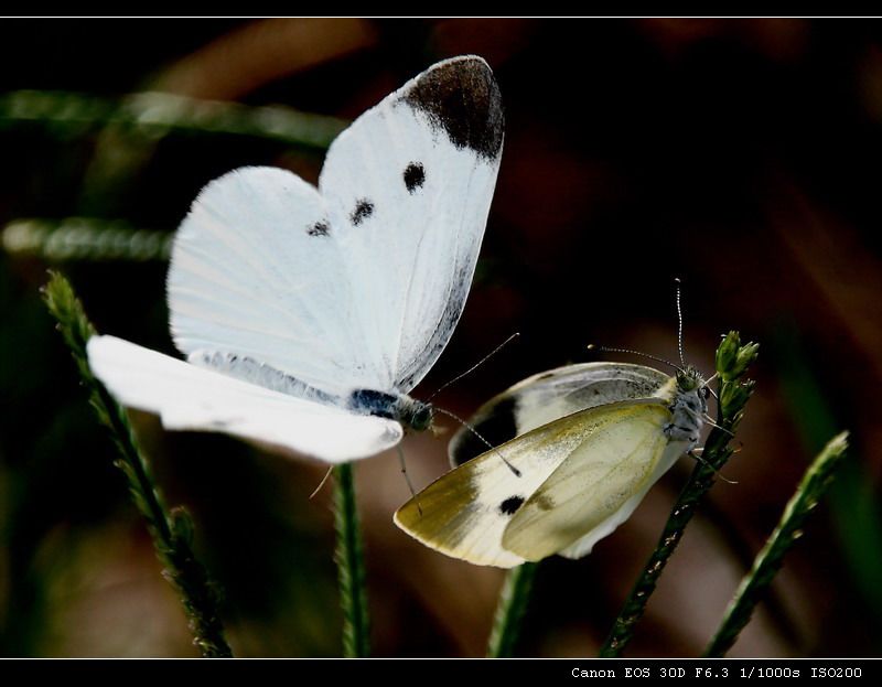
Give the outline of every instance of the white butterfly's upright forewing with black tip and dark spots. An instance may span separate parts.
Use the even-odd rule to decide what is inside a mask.
[[[407,393],[449,341],[472,282],[503,143],[499,92],[480,57],[442,62],[334,141],[320,180],[357,285],[355,316]]]

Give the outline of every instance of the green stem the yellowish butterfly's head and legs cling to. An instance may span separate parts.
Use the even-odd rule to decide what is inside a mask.
[[[696,463],[689,481],[674,504],[655,550],[646,561],[601,647],[601,657],[617,657],[624,652],[634,636],[637,622],[646,611],[646,604],[655,591],[658,578],[682,538],[686,526],[692,519],[704,495],[713,486],[719,470],[732,455],[733,450],[729,444],[744,415],[744,406],[753,393],[753,383],[741,382],[741,377],[755,359],[757,348],[757,344],[741,345],[738,332],[730,332],[717,350],[720,384],[716,423],[719,427],[708,437],[701,460]]]

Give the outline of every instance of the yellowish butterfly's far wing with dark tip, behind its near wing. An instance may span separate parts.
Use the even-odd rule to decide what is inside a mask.
[[[644,365],[566,365],[536,374],[498,394],[481,406],[469,423],[495,446],[571,412],[664,394],[671,384],[670,376]],[[459,429],[448,447],[453,466],[484,451],[486,444],[467,428]]]

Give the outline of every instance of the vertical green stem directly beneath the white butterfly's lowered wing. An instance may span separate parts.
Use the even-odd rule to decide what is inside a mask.
[[[364,544],[351,463],[334,468],[334,524],[337,533],[334,558],[343,609],[343,655],[346,658],[366,658],[370,655],[370,622],[365,589]]]

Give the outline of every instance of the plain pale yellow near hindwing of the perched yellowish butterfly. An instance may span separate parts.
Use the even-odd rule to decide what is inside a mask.
[[[659,466],[669,468],[687,448],[671,444],[668,450],[664,427],[671,416],[658,400],[610,404],[559,422],[572,422],[579,415],[585,416],[579,422],[582,441],[518,508],[503,534],[503,547],[526,560],[593,538],[580,547],[588,549],[581,555],[588,552],[631,515],[664,472]],[[590,537],[592,533],[600,536]]]

